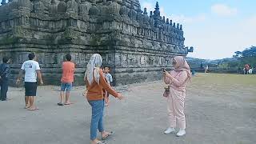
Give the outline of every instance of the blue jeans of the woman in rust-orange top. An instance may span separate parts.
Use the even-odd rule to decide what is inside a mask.
[[[104,100],[88,101],[92,107],[91,122],[90,122],[90,140],[97,138],[97,129],[99,132],[104,131],[103,127],[103,111]]]

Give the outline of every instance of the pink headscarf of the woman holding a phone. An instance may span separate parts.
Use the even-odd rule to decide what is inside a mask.
[[[191,80],[191,73],[190,73],[190,66],[187,64],[185,58],[183,58],[182,56],[176,56],[173,59],[175,59],[175,61],[177,62],[178,68],[174,69],[176,72],[178,71],[186,71],[188,80]]]

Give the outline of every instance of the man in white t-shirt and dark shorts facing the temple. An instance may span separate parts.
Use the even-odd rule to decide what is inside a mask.
[[[37,78],[39,78],[39,82],[42,85],[42,75],[40,72],[40,66],[38,62],[36,62],[36,56],[34,53],[29,54],[28,61],[22,64],[22,68],[18,74],[17,84],[21,82],[22,74],[25,73],[25,102],[26,109],[28,110],[38,110],[38,108],[34,105],[34,97],[37,94]]]

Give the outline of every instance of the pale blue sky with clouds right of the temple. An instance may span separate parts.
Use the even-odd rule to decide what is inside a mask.
[[[157,0],[139,0],[147,11]],[[162,16],[182,24],[189,57],[231,58],[256,46],[255,0],[158,0]]]

